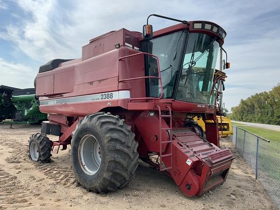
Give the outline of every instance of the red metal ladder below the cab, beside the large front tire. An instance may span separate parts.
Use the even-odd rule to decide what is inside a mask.
[[[166,171],[166,170],[170,170],[172,169],[172,113],[171,113],[171,108],[166,105],[166,108],[168,108],[169,110],[169,114],[167,115],[162,115],[161,114],[161,109],[158,105],[156,105],[156,107],[158,108],[158,118],[159,118],[159,171]],[[163,118],[169,118],[169,127],[167,128],[163,128],[162,127],[162,121]],[[162,140],[162,131],[167,131],[169,134],[169,140]],[[164,154],[162,155],[162,144],[164,143],[171,143],[171,152],[169,154]],[[163,167],[163,162],[162,162],[162,157],[169,157],[170,158],[170,167]]]

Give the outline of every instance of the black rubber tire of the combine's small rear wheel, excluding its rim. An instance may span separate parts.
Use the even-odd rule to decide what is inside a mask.
[[[43,133],[36,133],[32,134],[30,137],[29,142],[29,147],[28,147],[28,152],[29,152],[29,158],[34,161],[38,161],[40,163],[48,163],[51,161],[51,151],[52,151],[52,146],[53,142],[47,137],[46,134]],[[37,144],[38,147],[38,159],[32,159],[30,155],[30,146],[34,142]]]

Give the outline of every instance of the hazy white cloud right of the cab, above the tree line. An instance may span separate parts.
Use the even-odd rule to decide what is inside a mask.
[[[224,101],[229,110],[241,98],[269,91],[280,82],[279,49],[280,37],[273,33],[227,47],[232,68],[226,70]]]

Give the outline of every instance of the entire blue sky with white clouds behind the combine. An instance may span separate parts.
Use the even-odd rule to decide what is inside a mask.
[[[49,60],[79,58],[89,39],[109,31],[141,31],[154,13],[226,30],[228,110],[280,83],[280,0],[0,0],[0,85],[32,88]],[[150,23],[154,30],[176,24]]]

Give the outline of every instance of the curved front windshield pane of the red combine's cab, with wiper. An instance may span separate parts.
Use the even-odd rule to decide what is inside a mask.
[[[176,99],[180,101],[213,104],[210,92],[216,66],[219,43],[215,38],[190,33],[183,59]]]

